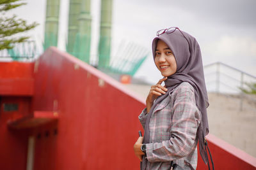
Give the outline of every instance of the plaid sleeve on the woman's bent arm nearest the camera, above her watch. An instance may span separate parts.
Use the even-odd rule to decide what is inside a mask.
[[[195,104],[195,94],[190,90],[174,97],[170,140],[146,145],[149,162],[169,162],[188,155],[195,149],[196,131],[200,124],[200,111]]]

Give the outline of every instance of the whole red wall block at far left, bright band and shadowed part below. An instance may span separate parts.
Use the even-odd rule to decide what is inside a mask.
[[[0,169],[26,169],[28,131],[12,131],[8,122],[31,114],[33,63],[0,62]],[[4,104],[18,104],[4,111]]]

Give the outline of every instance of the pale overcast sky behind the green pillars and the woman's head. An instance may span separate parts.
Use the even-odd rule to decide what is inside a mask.
[[[36,21],[40,26],[29,34],[43,41],[45,0],[28,0],[9,12]],[[161,78],[152,60],[151,43],[156,31],[177,26],[194,36],[201,48],[204,64],[221,61],[256,75],[256,1],[170,1],[113,0],[112,54],[122,39],[148,48],[150,55],[136,77],[155,82]],[[92,50],[97,55],[100,0],[93,0]],[[68,23],[68,0],[61,0],[58,47],[65,50]]]

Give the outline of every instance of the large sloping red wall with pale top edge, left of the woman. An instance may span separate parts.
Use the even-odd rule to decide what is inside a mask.
[[[59,122],[58,135],[36,139],[35,169],[138,169],[143,101],[56,48],[36,65],[33,110],[58,111]]]

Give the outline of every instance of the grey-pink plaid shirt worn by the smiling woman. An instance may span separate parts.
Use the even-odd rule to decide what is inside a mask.
[[[146,108],[139,119],[144,128]],[[147,169],[170,169],[172,160],[183,169],[196,169],[196,131],[200,120],[193,87],[188,82],[180,83],[169,97],[157,104],[150,118]]]

